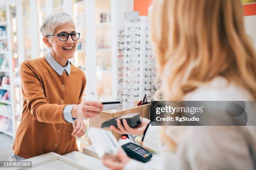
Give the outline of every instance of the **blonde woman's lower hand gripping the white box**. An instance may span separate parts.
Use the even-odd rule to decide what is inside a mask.
[[[118,150],[117,156],[105,154],[102,158],[103,164],[111,170],[123,170],[130,160],[122,149]]]

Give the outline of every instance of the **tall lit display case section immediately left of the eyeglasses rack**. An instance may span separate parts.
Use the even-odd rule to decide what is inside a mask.
[[[95,0],[97,100],[112,99],[111,0]]]

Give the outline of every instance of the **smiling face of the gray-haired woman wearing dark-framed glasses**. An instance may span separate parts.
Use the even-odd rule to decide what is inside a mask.
[[[76,32],[74,23],[67,23],[57,27],[54,31],[54,35],[59,33],[72,33]],[[74,56],[74,52],[77,48],[77,40],[72,40],[71,36],[67,41],[60,41],[58,36],[54,36],[51,41],[51,50],[58,56],[59,59],[67,60]]]

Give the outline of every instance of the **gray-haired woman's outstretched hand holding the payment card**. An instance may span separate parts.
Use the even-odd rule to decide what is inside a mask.
[[[103,105],[100,102],[84,100],[79,105],[74,105],[72,107],[72,117],[89,119],[100,114],[102,107]]]

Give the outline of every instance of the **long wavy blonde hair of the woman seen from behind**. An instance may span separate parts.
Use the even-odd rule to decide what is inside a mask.
[[[244,30],[241,0],[155,0],[150,22],[164,100],[182,100],[217,76],[256,100],[256,53]],[[165,129],[160,138],[174,151],[177,143]]]

